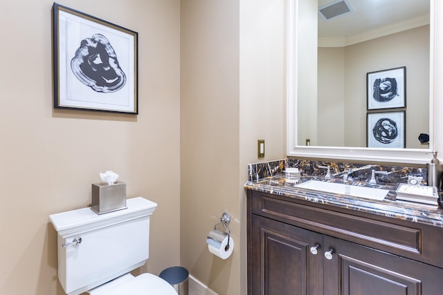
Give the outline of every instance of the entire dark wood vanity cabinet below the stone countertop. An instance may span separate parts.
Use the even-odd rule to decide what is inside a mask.
[[[248,294],[443,294],[441,228],[286,199],[248,190]]]

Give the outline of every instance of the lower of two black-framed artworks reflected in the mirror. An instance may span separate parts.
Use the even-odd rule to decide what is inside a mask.
[[[372,148],[406,147],[405,111],[368,113],[367,146]]]

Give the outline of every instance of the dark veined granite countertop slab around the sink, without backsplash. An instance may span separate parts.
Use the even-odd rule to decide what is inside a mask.
[[[303,180],[306,181],[307,178]],[[358,183],[355,184],[359,185]],[[386,196],[384,200],[368,200],[365,198],[345,196],[336,193],[302,189],[296,187],[293,183],[286,182],[282,175],[273,175],[266,178],[260,178],[259,180],[249,180],[244,187],[253,191],[273,193],[287,198],[328,204],[334,207],[443,227],[443,209],[441,209],[441,207],[438,207],[437,205],[422,205],[412,202],[397,201],[395,200],[395,190],[397,189],[397,185],[394,184],[382,187],[383,189],[390,190],[388,196]]]

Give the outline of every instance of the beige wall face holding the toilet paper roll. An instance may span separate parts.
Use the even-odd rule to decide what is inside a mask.
[[[181,1],[181,263],[219,294],[239,285],[238,21],[238,1]],[[228,260],[206,244],[224,211]]]

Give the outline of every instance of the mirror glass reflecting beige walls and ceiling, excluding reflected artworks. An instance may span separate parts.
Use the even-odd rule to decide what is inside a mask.
[[[428,149],[430,0],[345,0],[351,12],[325,21],[331,0],[298,1],[296,146],[367,146],[367,73],[406,67],[406,149]],[[343,2],[343,0],[341,0]],[[328,15],[327,17],[330,17]]]

